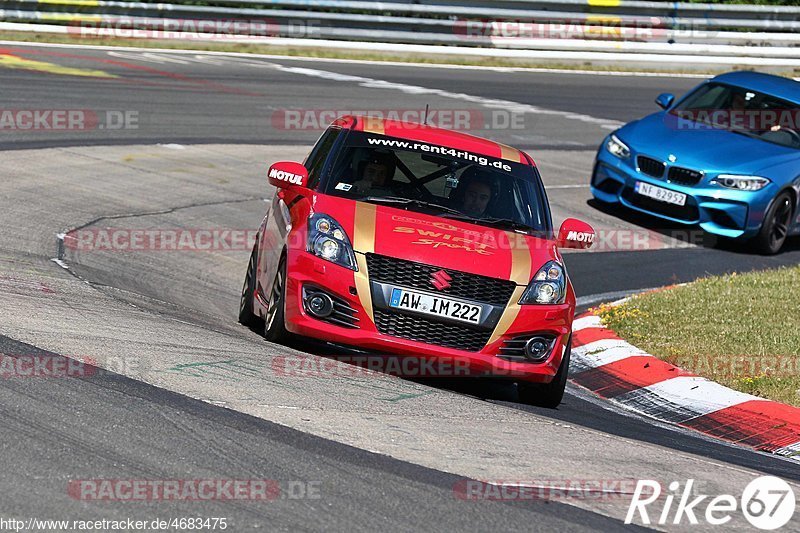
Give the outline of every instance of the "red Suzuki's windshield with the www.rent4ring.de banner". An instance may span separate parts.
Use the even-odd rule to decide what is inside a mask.
[[[322,191],[529,234],[549,228],[535,167],[358,131]]]

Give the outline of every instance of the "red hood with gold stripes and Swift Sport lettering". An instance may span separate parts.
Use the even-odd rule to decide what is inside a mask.
[[[405,209],[316,195],[313,209],[335,218],[357,253],[376,253],[527,285],[555,242]]]

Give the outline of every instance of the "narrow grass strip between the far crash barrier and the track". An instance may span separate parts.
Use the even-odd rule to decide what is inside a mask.
[[[421,63],[436,65],[473,65],[484,67],[517,67],[517,68],[550,68],[565,70],[592,70],[592,71],[614,71],[614,72],[665,72],[665,73],[688,73],[688,74],[721,74],[729,70],[742,70],[739,68],[721,69],[684,69],[679,66],[664,68],[639,68],[624,67],[617,65],[594,65],[592,63],[550,63],[536,62],[523,59],[503,59],[503,58],[481,58],[463,56],[439,56],[425,54],[407,53],[383,53],[383,52],[360,52],[348,50],[336,50],[330,48],[292,48],[287,46],[245,44],[245,43],[223,43],[223,42],[195,42],[195,41],[174,41],[174,40],[151,40],[151,39],[121,39],[121,38],[94,38],[94,37],[71,37],[63,34],[53,33],[31,33],[31,32],[0,32],[0,40],[39,42],[39,43],[59,43],[59,44],[86,44],[101,46],[135,46],[139,48],[164,48],[164,49],[183,49],[213,52],[238,52],[250,54],[271,54],[287,57],[319,57],[330,59],[357,59],[366,61],[396,61],[402,63]],[[800,73],[800,69],[797,69]],[[795,76],[791,71],[779,72],[785,76]]]

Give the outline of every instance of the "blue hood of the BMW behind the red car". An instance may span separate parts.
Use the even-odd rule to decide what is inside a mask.
[[[762,169],[796,161],[797,150],[722,129],[689,129],[664,111],[623,126],[617,136],[635,153],[670,160],[707,173],[757,174]]]

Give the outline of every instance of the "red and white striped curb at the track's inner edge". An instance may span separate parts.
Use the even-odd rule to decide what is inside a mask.
[[[574,323],[570,379],[625,409],[800,460],[800,409],[734,391],[622,340],[592,312]]]

